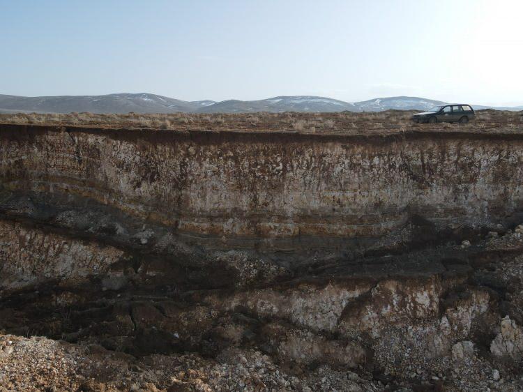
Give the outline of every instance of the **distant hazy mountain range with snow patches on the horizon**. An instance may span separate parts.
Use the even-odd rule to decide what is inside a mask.
[[[263,100],[186,101],[150,93],[105,96],[22,97],[0,95],[0,113],[250,113],[250,112],[381,112],[383,110],[428,110],[444,102],[418,97],[389,97],[344,102],[317,96],[279,96]],[[523,110],[518,107],[473,105],[474,109]]]

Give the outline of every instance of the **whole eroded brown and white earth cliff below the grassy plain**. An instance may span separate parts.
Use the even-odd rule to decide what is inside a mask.
[[[2,382],[53,347],[73,362],[42,388],[518,390],[522,156],[503,133],[0,126],[0,329],[56,340],[4,338]]]

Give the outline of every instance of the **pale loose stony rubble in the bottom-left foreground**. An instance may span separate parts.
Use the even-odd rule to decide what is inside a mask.
[[[8,391],[379,391],[371,375],[317,368],[294,377],[255,350],[135,359],[100,346],[1,336],[0,382]]]

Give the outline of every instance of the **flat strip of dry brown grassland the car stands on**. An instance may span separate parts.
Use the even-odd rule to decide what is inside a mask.
[[[414,124],[414,111],[242,114],[0,114],[0,123],[101,126],[167,130],[296,131],[298,133],[387,133],[406,130],[475,130],[523,132],[523,112],[480,110],[468,124]]]

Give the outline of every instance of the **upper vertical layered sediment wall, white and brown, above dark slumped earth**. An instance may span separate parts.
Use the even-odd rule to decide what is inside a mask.
[[[409,216],[484,225],[523,204],[523,137],[1,126],[10,190],[79,195],[218,238],[383,236]]]

